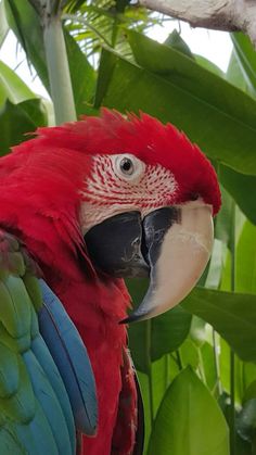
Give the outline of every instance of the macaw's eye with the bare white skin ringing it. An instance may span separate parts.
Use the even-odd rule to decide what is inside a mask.
[[[113,155],[113,159],[115,173],[121,179],[136,184],[145,172],[145,164],[130,153]]]

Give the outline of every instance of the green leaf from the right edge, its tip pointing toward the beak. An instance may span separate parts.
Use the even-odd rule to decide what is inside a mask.
[[[244,361],[256,361],[256,295],[194,289],[182,307],[210,324]]]

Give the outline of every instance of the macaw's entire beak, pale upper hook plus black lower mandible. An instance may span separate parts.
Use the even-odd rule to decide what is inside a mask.
[[[212,207],[189,202],[151,212],[143,222],[139,212],[116,215],[93,227],[86,241],[91,260],[104,271],[150,275],[142,303],[121,323],[149,319],[180,303],[204,271],[214,241]]]

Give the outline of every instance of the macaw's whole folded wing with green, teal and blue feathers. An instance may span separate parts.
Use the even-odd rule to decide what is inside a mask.
[[[71,392],[73,390],[73,392]],[[40,269],[0,230],[0,453],[76,453],[98,404],[86,347]]]

